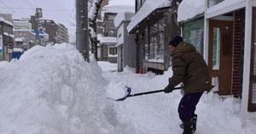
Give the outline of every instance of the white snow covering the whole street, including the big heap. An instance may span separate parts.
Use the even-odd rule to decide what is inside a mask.
[[[98,65],[99,66],[98,66]],[[32,47],[19,60],[0,62],[1,134],[178,134],[180,91],[108,99],[114,91],[132,93],[166,86],[164,75],[135,74],[116,64],[83,57],[69,44]],[[197,107],[197,134],[253,134],[256,113],[241,127],[241,100],[205,93]],[[230,129],[232,128],[232,129]]]

